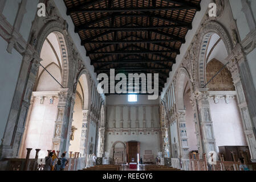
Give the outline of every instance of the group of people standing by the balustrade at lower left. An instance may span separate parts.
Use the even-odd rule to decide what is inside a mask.
[[[45,159],[43,171],[64,171],[68,164],[68,160],[65,156],[66,154],[63,153],[61,158],[58,158],[55,151],[50,152]]]

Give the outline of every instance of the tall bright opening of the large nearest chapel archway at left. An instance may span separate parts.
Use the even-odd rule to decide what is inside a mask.
[[[41,43],[39,52],[42,66],[38,69],[32,89],[31,105],[19,150],[21,158],[26,157],[26,148],[40,148],[39,158],[44,158],[48,155],[47,150],[52,150],[59,90],[63,85],[68,85],[68,53],[64,35],[51,31]],[[31,151],[31,156],[34,153],[34,150]]]

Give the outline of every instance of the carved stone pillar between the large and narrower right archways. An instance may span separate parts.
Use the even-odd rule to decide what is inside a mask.
[[[208,89],[199,89],[198,92],[198,109],[199,109],[199,129],[202,139],[203,153],[209,154],[210,151],[216,151],[216,141],[213,132],[213,121],[210,113]],[[200,154],[201,155],[201,154]],[[202,155],[201,155],[202,157]]]

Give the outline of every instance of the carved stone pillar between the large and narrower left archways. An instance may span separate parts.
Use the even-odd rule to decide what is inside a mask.
[[[70,138],[68,132],[71,110],[70,107],[71,102],[68,89],[60,89],[58,114],[55,121],[54,138],[52,139],[52,149],[55,151],[68,151]]]

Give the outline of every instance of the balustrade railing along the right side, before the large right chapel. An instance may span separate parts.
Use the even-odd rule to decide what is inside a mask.
[[[190,155],[190,159],[176,159],[172,158],[172,167],[182,169],[184,171],[239,171],[239,163],[237,159],[234,161],[225,161],[224,156],[220,156],[220,161],[216,161],[213,165],[207,162],[206,155],[203,155],[203,159],[199,158],[199,154],[196,156]],[[246,163],[250,171],[256,171],[256,163]]]

